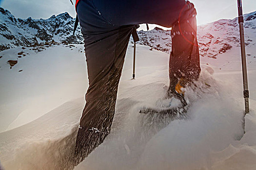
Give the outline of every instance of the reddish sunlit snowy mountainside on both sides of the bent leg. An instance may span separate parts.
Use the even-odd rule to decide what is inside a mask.
[[[245,44],[256,45],[256,11],[244,15]],[[155,28],[151,31],[139,31],[138,44],[147,45],[159,51],[171,50],[170,30]],[[250,38],[249,38],[250,37]],[[239,46],[239,25],[235,19],[220,19],[200,25],[197,28],[197,38],[201,56],[216,58],[218,54]]]

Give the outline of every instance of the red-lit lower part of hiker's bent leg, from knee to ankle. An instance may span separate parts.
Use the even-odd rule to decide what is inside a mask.
[[[201,68],[197,43],[196,9],[190,2],[189,9],[180,15],[179,20],[172,26],[172,52],[170,54],[169,93],[175,92],[177,83],[186,84],[197,81]]]

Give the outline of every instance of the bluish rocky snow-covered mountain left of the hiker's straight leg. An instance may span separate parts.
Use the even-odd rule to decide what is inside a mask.
[[[42,42],[81,44],[80,28],[73,34],[75,18],[67,12],[48,19],[20,19],[0,7],[0,51]]]

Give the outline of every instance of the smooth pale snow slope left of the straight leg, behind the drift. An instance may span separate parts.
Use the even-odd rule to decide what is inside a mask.
[[[4,80],[0,82],[0,94],[4,96],[0,98],[0,132],[35,120],[64,102],[83,97],[88,87],[84,53],[73,55],[70,48],[59,46],[43,52],[31,49],[0,52],[0,77]],[[83,46],[78,45],[74,51],[78,53],[81,49]],[[26,56],[18,58],[20,51]],[[10,69],[8,60],[18,60],[18,64]]]

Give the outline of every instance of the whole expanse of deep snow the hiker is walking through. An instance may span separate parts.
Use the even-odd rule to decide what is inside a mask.
[[[79,49],[82,46],[55,46],[39,53],[25,49],[29,55],[12,69],[6,62],[16,59],[21,49],[0,52],[4,80],[0,119],[1,130],[7,130],[0,133],[0,160],[6,170],[62,169],[74,145],[88,87],[84,53]],[[198,86],[211,87],[204,93],[187,89],[186,99],[193,103],[188,118],[167,126],[164,120],[150,121],[138,113],[142,105],[162,98],[168,86],[168,54],[149,49],[138,45],[136,80],[130,80],[133,48],[129,45],[112,132],[75,170],[254,170],[256,58],[247,57],[251,110],[242,136],[238,47],[217,59],[201,57]],[[253,47],[246,51],[256,52]]]

